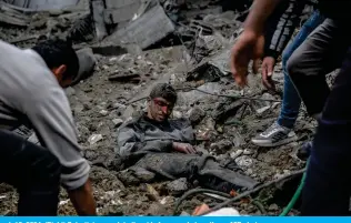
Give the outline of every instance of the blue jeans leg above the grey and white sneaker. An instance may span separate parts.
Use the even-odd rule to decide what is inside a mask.
[[[301,105],[301,99],[288,74],[287,61],[295,51],[295,49],[298,49],[300,44],[307,39],[307,37],[323,21],[324,17],[318,10],[315,10],[309,20],[304,22],[300,32],[293,39],[293,42],[291,42],[283,52],[282,65],[284,73],[284,92],[280,115],[278,118],[278,123],[282,126],[289,129],[293,128]]]

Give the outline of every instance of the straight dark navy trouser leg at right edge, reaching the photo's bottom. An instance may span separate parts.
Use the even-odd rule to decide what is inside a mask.
[[[351,195],[351,49],[319,120],[302,196],[302,215],[347,215]]]

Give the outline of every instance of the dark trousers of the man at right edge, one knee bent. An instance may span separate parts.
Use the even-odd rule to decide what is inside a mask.
[[[349,22],[349,21],[348,21]],[[351,49],[349,26],[327,19],[288,61],[310,114],[321,112],[301,215],[348,215],[351,195]],[[330,90],[324,75],[340,68]]]

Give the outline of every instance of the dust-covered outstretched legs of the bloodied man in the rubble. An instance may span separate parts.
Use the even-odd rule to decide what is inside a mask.
[[[252,189],[257,185],[257,182],[251,178],[222,168],[213,158],[208,155],[150,153],[142,158],[134,168],[142,168],[169,179],[197,180],[200,184],[212,189],[218,189],[218,185],[215,186],[213,183],[223,182],[228,182],[227,186],[235,189]]]

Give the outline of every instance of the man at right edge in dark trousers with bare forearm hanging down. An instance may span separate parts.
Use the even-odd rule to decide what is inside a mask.
[[[249,61],[262,55],[264,22],[279,1],[254,1],[244,32],[232,49],[231,68],[240,85],[247,83]],[[351,95],[351,37],[348,29],[351,1],[320,0],[319,8],[327,17],[325,21],[288,61],[289,74],[308,112],[319,120],[301,214],[348,215],[351,195],[351,101],[344,98]],[[330,91],[324,75],[340,64]]]

